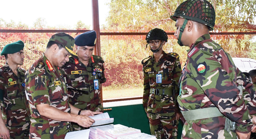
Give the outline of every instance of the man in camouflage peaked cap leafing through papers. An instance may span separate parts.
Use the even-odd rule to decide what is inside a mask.
[[[70,55],[77,56],[73,46],[74,38],[68,34],[53,35],[44,54],[26,72],[31,139],[64,139],[70,131],[70,122],[89,127],[94,120],[87,116],[98,114],[81,111],[68,102],[66,80],[58,67],[68,62]]]

